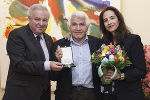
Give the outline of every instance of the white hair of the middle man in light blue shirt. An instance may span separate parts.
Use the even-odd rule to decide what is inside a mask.
[[[75,11],[75,12],[72,13],[72,15],[68,19],[68,26],[69,27],[71,25],[71,18],[73,16],[78,17],[78,18],[85,18],[85,24],[86,24],[86,26],[89,26],[90,21],[89,21],[88,15],[83,11]]]

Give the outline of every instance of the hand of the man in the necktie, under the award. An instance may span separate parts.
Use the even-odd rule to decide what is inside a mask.
[[[50,69],[52,71],[61,71],[62,70],[62,64],[60,62],[51,61]]]

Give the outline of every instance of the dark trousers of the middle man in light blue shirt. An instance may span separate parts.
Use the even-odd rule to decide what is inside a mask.
[[[73,87],[72,100],[96,100],[94,89]]]

